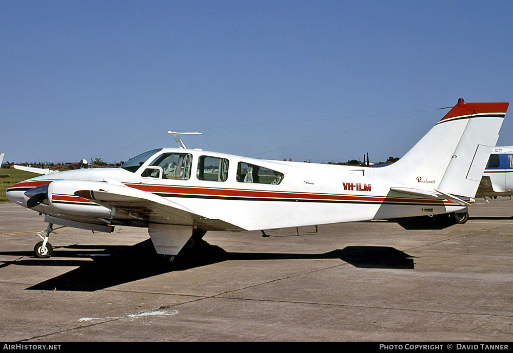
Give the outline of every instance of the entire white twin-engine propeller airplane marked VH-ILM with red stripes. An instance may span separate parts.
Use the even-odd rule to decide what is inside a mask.
[[[53,225],[112,232],[148,227],[157,254],[174,258],[207,231],[253,231],[448,215],[463,219],[509,103],[455,107],[384,168],[272,161],[179,148],[145,152],[121,168],[38,176],[7,196],[45,215],[34,248],[49,257]],[[433,217],[434,218],[434,217]],[[264,233],[265,234],[265,233]]]

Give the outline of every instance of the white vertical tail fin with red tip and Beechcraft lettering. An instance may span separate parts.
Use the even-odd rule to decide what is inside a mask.
[[[374,178],[474,197],[508,105],[460,99],[403,158],[376,169]]]

